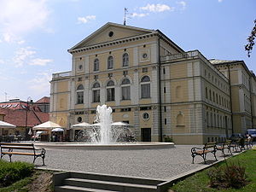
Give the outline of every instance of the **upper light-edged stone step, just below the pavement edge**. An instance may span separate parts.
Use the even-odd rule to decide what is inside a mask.
[[[131,192],[155,192],[157,187],[149,184],[137,183],[119,183],[110,181],[91,180],[84,178],[66,178],[64,185],[91,188],[91,189],[107,189],[114,191],[131,191]]]

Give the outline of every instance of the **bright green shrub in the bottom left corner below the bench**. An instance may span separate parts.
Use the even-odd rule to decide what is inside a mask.
[[[32,175],[34,165],[26,162],[0,160],[0,188]]]

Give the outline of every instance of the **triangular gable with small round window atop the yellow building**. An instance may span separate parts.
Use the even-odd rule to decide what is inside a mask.
[[[90,36],[84,38],[84,40],[79,42],[79,44],[73,46],[73,48],[69,49],[69,51],[73,49],[87,47],[94,44],[106,43],[120,38],[129,38],[151,32],[155,31],[108,22],[107,24],[96,30],[96,32],[93,32],[92,34],[90,34]]]

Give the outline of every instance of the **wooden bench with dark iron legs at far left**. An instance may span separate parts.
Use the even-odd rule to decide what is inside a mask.
[[[33,156],[35,160],[38,157],[43,159],[43,166],[44,166],[44,158],[45,158],[45,149],[44,148],[35,148],[33,143],[0,143],[1,147],[1,159],[3,155],[9,155],[9,161],[11,162],[11,157],[13,154],[17,155],[29,155]]]

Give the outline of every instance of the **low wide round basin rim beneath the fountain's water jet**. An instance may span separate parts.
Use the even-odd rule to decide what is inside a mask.
[[[82,149],[82,150],[137,150],[174,148],[174,143],[34,143],[37,148]]]

